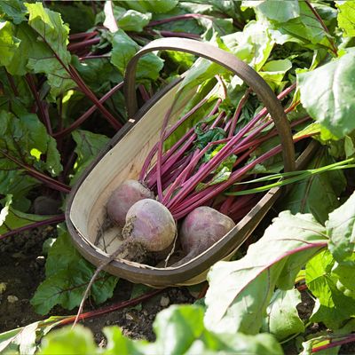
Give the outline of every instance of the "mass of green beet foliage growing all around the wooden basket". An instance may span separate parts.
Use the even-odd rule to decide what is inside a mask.
[[[106,328],[104,349],[93,343],[88,330],[63,328],[46,335],[40,351],[114,353],[119,347],[127,353],[274,354],[282,353],[280,342],[298,344],[299,351],[310,354],[336,353],[343,343],[353,342],[354,195],[341,206],[353,191],[353,170],[317,174],[355,154],[352,2],[292,0],[282,7],[271,1],[91,3],[0,3],[0,239],[64,220],[60,209],[55,215],[37,215],[34,200],[44,194],[65,204],[71,186],[125,122],[122,75],[128,60],[154,38],[209,41],[254,67],[276,93],[290,90],[282,98],[288,119],[291,125],[304,120],[298,131],[293,126],[295,137],[312,135],[321,148],[301,173],[310,178],[297,182],[280,203],[280,209],[293,214],[282,212],[246,256],[218,263],[209,272],[204,315],[201,306],[171,307],[155,321],[155,343],[132,341],[119,329]],[[201,84],[191,106],[220,75],[228,106],[248,97],[235,130],[260,111],[240,78],[175,51],[141,60],[138,99],[151,98],[187,68],[183,86]],[[261,146],[256,154],[270,149]],[[251,172],[250,184],[263,182],[253,182],[253,174],[260,172],[275,174],[265,179],[294,178],[280,174],[277,159]],[[47,258],[47,279],[32,300],[36,311],[44,314],[54,304],[73,309],[93,272],[59,225]],[[296,281],[315,299],[307,319],[296,312]],[[103,273],[91,296],[105,301],[116,282]],[[0,349],[34,353],[36,342],[57,320],[1,335]],[[306,335],[315,322],[324,328]]]

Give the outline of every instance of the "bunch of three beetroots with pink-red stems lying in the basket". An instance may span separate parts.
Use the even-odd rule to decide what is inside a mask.
[[[282,91],[279,99],[294,89],[292,85]],[[276,144],[256,155],[264,142],[275,140],[277,131],[266,108],[244,125],[239,124],[248,99],[256,99],[250,90],[234,109],[226,108],[224,99],[216,99],[208,114],[169,145],[171,135],[186,126],[208,99],[202,99],[168,128],[170,108],[161,138],[147,155],[138,181],[124,181],[106,204],[107,216],[122,228],[122,257],[146,262],[148,256],[165,258],[174,248],[181,248],[184,255],[172,266],[185,264],[230,232],[262,197],[260,193],[226,194],[245,189],[248,185],[235,184],[250,178],[257,164],[281,152],[280,144]],[[291,122],[291,127],[307,119]]]

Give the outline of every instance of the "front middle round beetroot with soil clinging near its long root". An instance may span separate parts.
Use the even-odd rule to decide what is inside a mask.
[[[140,200],[132,205],[122,229],[123,239],[143,246],[148,252],[168,248],[176,233],[177,227],[169,209],[152,199]]]

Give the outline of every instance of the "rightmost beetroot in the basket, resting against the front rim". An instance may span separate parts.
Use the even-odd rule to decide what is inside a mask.
[[[185,217],[179,233],[181,247],[187,255],[173,266],[185,264],[207,250],[231,231],[234,225],[230,217],[217,209],[207,206],[193,209]]]

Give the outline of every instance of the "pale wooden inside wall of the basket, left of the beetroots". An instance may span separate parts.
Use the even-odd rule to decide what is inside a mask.
[[[118,227],[104,232],[106,201],[123,180],[138,178],[146,155],[160,137],[164,114],[170,109],[177,89],[178,85],[174,86],[150,107],[133,128],[97,162],[75,193],[69,214],[71,222],[78,234],[103,254],[112,253],[121,243],[116,238]],[[177,101],[170,123],[177,120],[193,93]],[[102,234],[99,239],[98,233]]]

